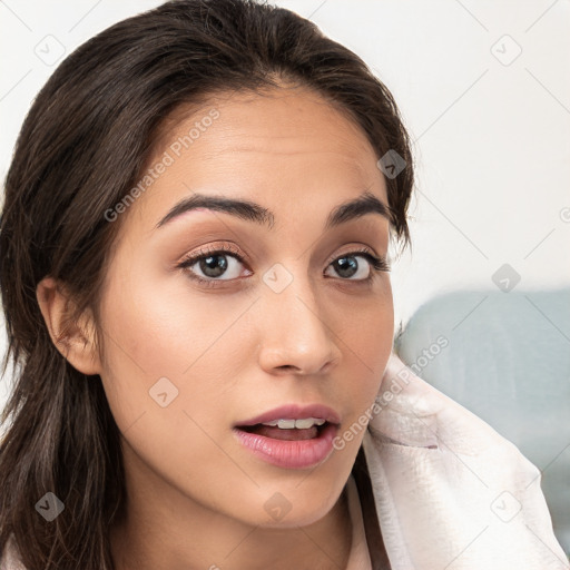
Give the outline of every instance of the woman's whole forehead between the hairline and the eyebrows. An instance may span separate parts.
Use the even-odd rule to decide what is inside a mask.
[[[364,190],[387,204],[376,159],[363,129],[312,90],[219,94],[199,108],[180,107],[164,122],[148,167],[168,167],[134,209],[159,219],[198,189],[276,210],[302,198],[327,214]]]

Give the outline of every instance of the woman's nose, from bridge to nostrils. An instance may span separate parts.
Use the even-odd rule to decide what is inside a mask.
[[[307,279],[263,292],[258,360],[269,374],[324,374],[341,361],[340,340]],[[331,307],[332,309],[333,307]]]

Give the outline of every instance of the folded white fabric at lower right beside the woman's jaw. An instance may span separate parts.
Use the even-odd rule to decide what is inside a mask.
[[[476,386],[473,386],[476,390]],[[364,434],[392,570],[562,570],[541,473],[393,354]]]

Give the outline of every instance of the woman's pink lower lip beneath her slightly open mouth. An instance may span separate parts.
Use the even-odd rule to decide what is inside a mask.
[[[317,438],[297,441],[275,440],[237,428],[233,431],[245,448],[267,463],[285,469],[306,469],[328,458],[337,429],[337,425],[328,423]]]

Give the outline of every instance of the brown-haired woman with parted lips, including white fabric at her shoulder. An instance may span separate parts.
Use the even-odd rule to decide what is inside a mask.
[[[538,470],[391,354],[412,185],[387,89],[287,10],[68,57],[0,227],[4,567],[563,568]]]

